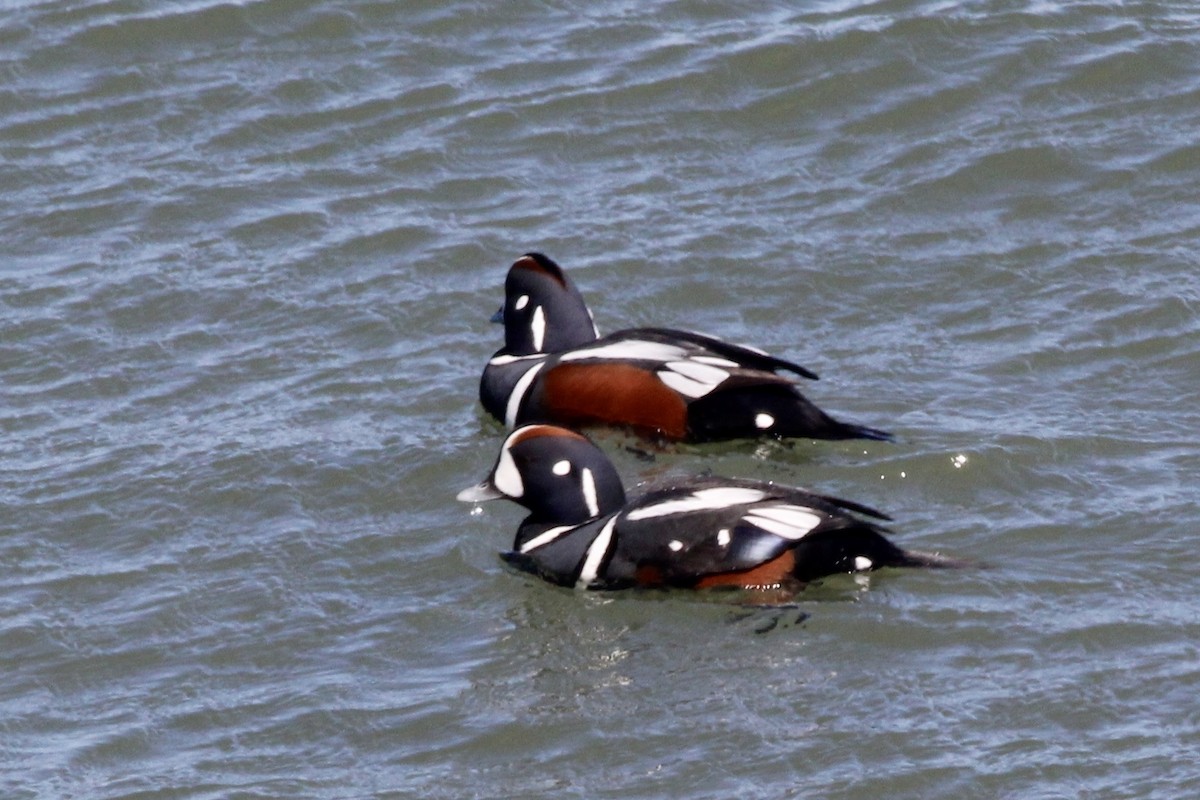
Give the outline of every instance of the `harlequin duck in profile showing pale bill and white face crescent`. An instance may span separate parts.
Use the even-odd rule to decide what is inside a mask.
[[[904,551],[864,505],[762,481],[692,477],[626,501],[612,462],[550,425],[509,434],[491,474],[458,499],[509,498],[529,510],[503,558],[580,589],[733,587],[794,591],[839,572],[961,566]]]

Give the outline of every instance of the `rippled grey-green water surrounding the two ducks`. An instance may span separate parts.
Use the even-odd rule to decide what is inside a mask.
[[[2,794],[1200,792],[1200,11],[490,5],[0,11]],[[508,572],[520,510],[454,493],[533,248],[901,439],[600,437],[630,483],[986,567]]]

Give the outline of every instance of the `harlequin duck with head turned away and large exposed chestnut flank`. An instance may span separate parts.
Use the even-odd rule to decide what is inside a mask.
[[[662,327],[601,337],[583,295],[541,253],[509,269],[496,319],[504,347],[487,362],[479,392],[509,428],[613,425],[683,441],[892,439],[818,409],[778,373],[816,374],[762,350]]]

